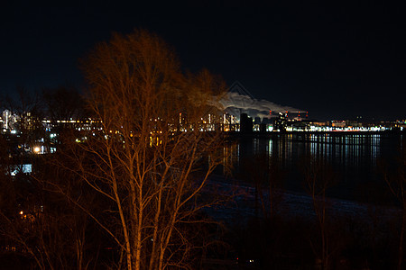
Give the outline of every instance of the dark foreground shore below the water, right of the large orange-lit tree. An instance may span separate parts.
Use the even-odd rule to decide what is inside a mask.
[[[277,190],[271,215],[266,190],[264,207],[249,184],[213,178],[208,193],[215,191],[233,193],[226,205],[208,209],[223,224],[226,244],[208,252],[202,269],[321,269],[321,230],[309,195]],[[396,207],[326,199],[329,269],[395,269],[400,218]]]

